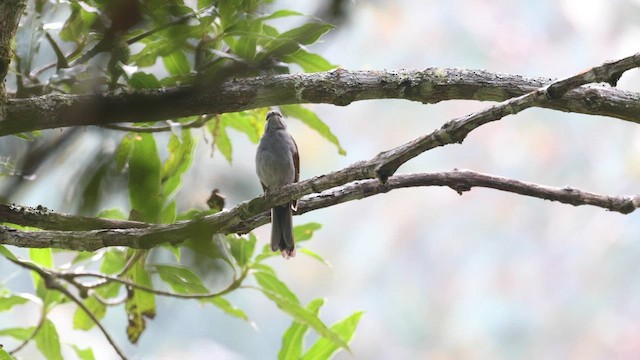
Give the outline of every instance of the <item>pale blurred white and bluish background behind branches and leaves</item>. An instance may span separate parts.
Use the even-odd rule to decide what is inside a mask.
[[[278,0],[272,6],[326,17],[326,3]],[[311,50],[346,69],[440,66],[564,77],[640,49],[638,0],[377,0],[343,6],[343,16],[332,18],[336,30]],[[287,28],[295,21],[277,25]],[[634,70],[619,87],[640,91],[639,84],[640,71]],[[301,178],[369,159],[487,105],[400,100],[309,105],[347,155],[291,121]],[[10,199],[76,211],[70,184],[77,181],[77,168],[110,154],[119,136],[81,131],[69,151]],[[230,135],[231,165],[200,141],[180,195],[182,209],[203,208],[214,187],[227,196],[228,207],[260,194],[253,168],[256,145],[244,135]],[[10,158],[19,145],[4,144],[2,150]],[[399,172],[467,168],[622,195],[640,192],[638,159],[637,124],[531,109],[475,130],[462,145],[429,151]],[[0,182],[5,191],[11,188],[11,178]],[[102,206],[121,201],[114,196],[112,204]],[[271,262],[303,302],[327,299],[326,322],[365,311],[352,354],[340,353],[338,359],[635,359],[640,354],[638,220],[636,213],[495,190],[459,196],[448,188],[405,189],[294,219],[323,224],[304,246],[323,255],[331,269],[303,255]],[[266,243],[269,225],[255,233]],[[0,271],[9,274],[8,286],[29,289],[28,277],[11,264],[0,263]],[[159,301],[158,316],[137,346],[126,345],[124,313],[114,312],[105,325],[133,359],[275,358],[291,320],[254,291],[237,291],[229,299],[249,314],[255,328],[212,307],[175,299]],[[99,358],[113,358],[100,333],[71,330],[73,310],[62,306],[52,314],[62,341],[84,342]],[[37,321],[28,309],[4,316]],[[39,353],[30,345],[22,356]]]

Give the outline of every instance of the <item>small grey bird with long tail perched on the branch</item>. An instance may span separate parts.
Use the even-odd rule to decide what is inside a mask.
[[[256,173],[265,194],[300,179],[300,155],[293,136],[287,132],[282,114],[267,113],[267,124],[256,151]],[[296,255],[293,239],[292,211],[298,201],[274,206],[271,209],[271,250],[280,250],[285,259]]]

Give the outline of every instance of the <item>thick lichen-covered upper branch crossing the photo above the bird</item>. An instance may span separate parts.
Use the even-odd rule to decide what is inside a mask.
[[[632,58],[637,62],[640,55]],[[0,118],[0,136],[39,129],[158,121],[297,103],[344,106],[370,99],[406,99],[422,103],[452,99],[504,101],[553,81],[481,70],[336,69],[181,88],[95,95],[53,94],[9,100],[7,116],[4,120]],[[640,123],[640,94],[615,88],[580,87],[538,106]]]

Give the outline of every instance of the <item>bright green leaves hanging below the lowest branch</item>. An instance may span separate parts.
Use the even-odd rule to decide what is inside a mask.
[[[318,229],[320,225],[317,223],[297,226],[294,236],[299,243],[304,244]],[[56,325],[49,318],[49,313],[56,306],[70,301],[82,302],[83,306],[78,306],[73,316],[73,327],[85,331],[96,325],[100,326],[99,321],[110,309],[122,307],[128,324],[127,337],[132,343],[136,343],[146,330],[148,321],[156,315],[158,297],[197,300],[253,324],[249,315],[226,297],[238,289],[248,289],[262,293],[293,319],[291,327],[283,335],[279,358],[327,359],[340,349],[348,350],[348,342],[353,337],[362,313],[356,312],[333,326],[325,325],[318,316],[323,300],[316,299],[306,307],[303,306],[268,265],[267,260],[276,255],[268,245],[256,251],[256,242],[253,234],[217,234],[211,239],[208,255],[224,262],[231,272],[227,286],[216,290],[207,285],[206,277],[181,263],[180,248],[172,251],[175,255],[173,261],[152,260],[163,249],[141,252],[109,248],[95,253],[78,253],[69,263],[56,267],[51,249],[31,249],[29,259],[26,260],[16,257],[0,245],[0,254],[5,258],[33,270],[35,289],[33,296],[14,294],[8,288],[0,287],[0,311],[10,311],[31,302],[41,312],[40,320],[35,326],[0,328],[0,336],[12,337],[23,343],[33,340],[48,359],[61,359],[64,345],[74,349],[81,359],[93,359],[90,348],[61,344]],[[303,248],[301,252],[328,265],[320,255],[309,249]],[[86,270],[97,264],[99,271]],[[84,280],[87,278],[94,281]],[[77,295],[73,295],[72,291]],[[313,329],[320,338],[303,354],[304,335],[308,329]]]

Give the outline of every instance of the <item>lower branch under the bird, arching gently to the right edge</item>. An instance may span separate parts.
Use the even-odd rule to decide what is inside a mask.
[[[303,183],[318,181],[318,179],[321,178],[322,177],[313,178]],[[301,185],[307,186],[307,184],[302,183]],[[145,229],[96,229],[93,231],[25,232],[5,227],[0,228],[0,243],[20,247],[57,247],[91,251],[105,246],[117,245],[133,248],[148,248],[167,241],[184,241],[190,234],[194,234],[195,229],[202,230],[203,228],[208,229],[207,233],[213,233],[214,231],[222,233],[247,233],[269,222],[270,215],[267,211],[268,208],[281,203],[281,199],[294,198],[294,186],[295,185],[285,187],[264,198],[258,197],[250,201],[245,201],[230,210],[208,216],[202,220],[193,220],[171,225],[147,224],[147,228]],[[390,177],[385,184],[375,179],[351,182],[343,186],[303,197],[299,202],[298,211],[295,214],[300,215],[347,201],[387,193],[395,189],[423,186],[447,186],[459,194],[469,191],[473,187],[484,187],[544,200],[558,201],[574,206],[592,205],[622,214],[631,213],[640,206],[640,196],[638,195],[602,195],[566,186],[553,187],[469,170],[453,170],[439,173],[395,175]],[[254,203],[260,203],[260,206],[253,206],[252,204]],[[253,210],[250,210],[251,208],[253,208]],[[262,210],[260,211],[260,209]],[[42,216],[46,217],[50,216],[50,214]],[[68,221],[72,221],[74,218],[72,215],[64,214],[56,214],[56,216],[66,218]],[[19,220],[19,218],[17,219]],[[34,225],[36,223],[46,224],[45,221],[24,221],[21,225]]]

